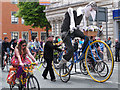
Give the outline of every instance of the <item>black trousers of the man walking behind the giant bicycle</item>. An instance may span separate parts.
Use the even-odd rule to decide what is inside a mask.
[[[47,74],[49,71],[51,80],[53,80],[53,79],[55,79],[55,75],[54,75],[53,68],[52,68],[52,60],[51,59],[45,59],[45,60],[47,62],[47,67],[45,68],[42,76],[47,77]]]

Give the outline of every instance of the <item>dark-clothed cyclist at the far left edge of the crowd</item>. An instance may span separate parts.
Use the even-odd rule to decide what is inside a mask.
[[[5,57],[4,57],[5,54],[10,55],[10,43],[8,42],[8,37],[5,37],[4,41],[2,42],[2,61],[1,61],[2,70],[4,65],[6,64]],[[3,62],[4,62],[4,65],[3,65]]]

